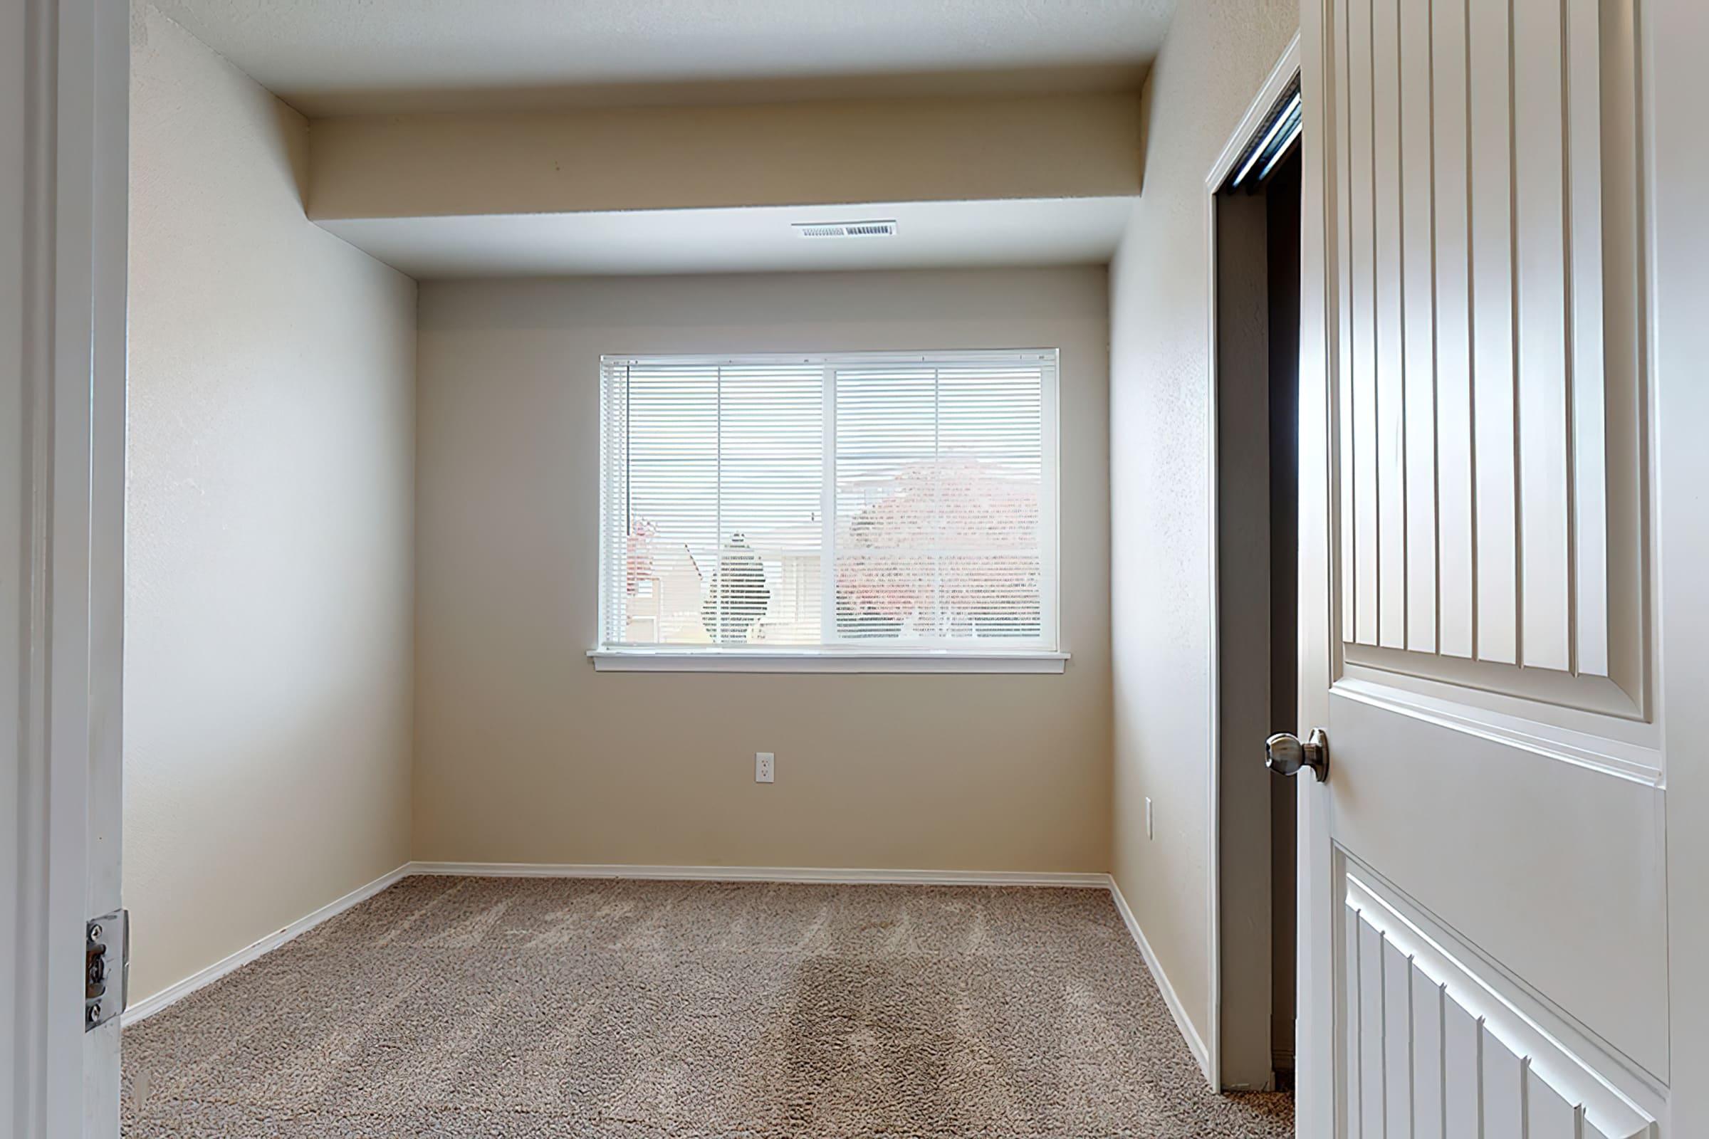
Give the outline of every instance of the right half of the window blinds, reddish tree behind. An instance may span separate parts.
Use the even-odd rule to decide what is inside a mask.
[[[832,369],[836,640],[1046,642],[1048,369],[1042,357]]]

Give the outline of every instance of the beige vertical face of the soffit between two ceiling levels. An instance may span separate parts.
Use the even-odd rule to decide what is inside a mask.
[[[316,219],[1125,196],[1133,92],[316,120]]]

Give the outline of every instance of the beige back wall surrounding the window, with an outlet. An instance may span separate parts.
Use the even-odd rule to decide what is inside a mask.
[[[1107,314],[1102,268],[424,283],[415,857],[1106,869]],[[1061,348],[1065,675],[593,671],[602,352],[962,347]]]

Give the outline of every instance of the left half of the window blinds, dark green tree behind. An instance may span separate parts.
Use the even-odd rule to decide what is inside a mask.
[[[607,644],[819,642],[822,384],[817,364],[607,362]]]

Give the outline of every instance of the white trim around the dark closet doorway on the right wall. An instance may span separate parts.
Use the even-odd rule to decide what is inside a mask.
[[[1207,312],[1208,326],[1205,336],[1205,500],[1208,504],[1207,517],[1207,534],[1208,534],[1208,557],[1210,581],[1210,707],[1207,709],[1207,719],[1210,724],[1210,755],[1208,755],[1208,775],[1207,775],[1207,801],[1208,809],[1208,827],[1207,830],[1207,850],[1205,866],[1210,867],[1210,888],[1205,912],[1208,915],[1207,939],[1208,961],[1207,961],[1207,980],[1210,990],[1210,1009],[1207,1019],[1207,1071],[1205,1079],[1210,1081],[1212,1091],[1222,1091],[1222,920],[1219,910],[1222,907],[1222,651],[1219,644],[1220,637],[1220,618],[1222,618],[1222,591],[1219,587],[1222,575],[1222,557],[1220,541],[1217,538],[1222,502],[1219,497],[1219,478],[1220,478],[1220,449],[1217,446],[1219,434],[1219,408],[1220,408],[1220,384],[1219,384],[1219,357],[1217,357],[1217,299],[1220,292],[1220,275],[1217,272],[1217,193],[1222,184],[1229,181],[1234,172],[1234,164],[1239,161],[1241,154],[1246,152],[1253,137],[1263,126],[1265,118],[1270,109],[1277,104],[1282,94],[1287,91],[1289,84],[1301,72],[1302,60],[1302,38],[1299,32],[1289,41],[1287,48],[1271,65],[1270,73],[1260,84],[1258,91],[1253,94],[1251,101],[1246,104],[1246,113],[1241,114],[1241,121],[1236,125],[1234,131],[1229,135],[1217,155],[1217,161],[1210,164],[1210,171],[1205,174],[1205,265],[1207,280],[1210,283]],[[1309,128],[1307,131],[1309,133]],[[1302,137],[1304,137],[1302,133]],[[1306,155],[1309,161],[1309,154]],[[1304,191],[1301,198],[1301,207],[1304,208]],[[1304,309],[1302,309],[1304,316]],[[1304,381],[1302,381],[1304,383]],[[1306,721],[1301,721],[1306,722]],[[1253,741],[1254,763],[1258,762],[1258,741]],[[1297,1048],[1297,1045],[1295,1045]],[[1297,1052],[1295,1052],[1297,1057]],[[1299,1064],[1299,1059],[1295,1059]]]

